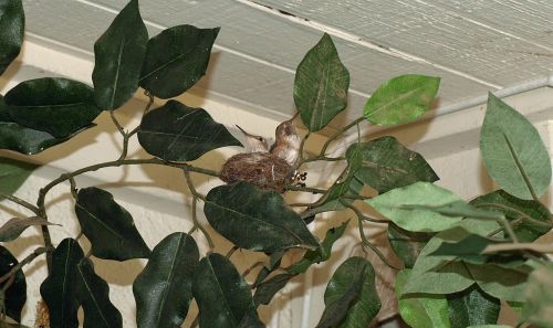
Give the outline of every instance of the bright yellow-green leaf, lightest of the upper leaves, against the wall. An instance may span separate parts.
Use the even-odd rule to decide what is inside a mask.
[[[365,118],[372,124],[409,123],[425,114],[434,102],[440,78],[400,75],[383,83],[365,104]]]

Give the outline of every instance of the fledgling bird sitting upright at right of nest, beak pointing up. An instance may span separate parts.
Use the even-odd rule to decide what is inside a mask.
[[[271,154],[285,160],[291,168],[294,168],[300,159],[300,146],[302,144],[302,139],[293,124],[296,116],[298,113],[276,127],[274,130],[274,144],[270,148]]]

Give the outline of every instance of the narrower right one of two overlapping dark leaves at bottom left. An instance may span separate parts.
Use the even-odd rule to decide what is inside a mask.
[[[123,328],[123,317],[109,300],[109,287],[94,273],[92,262],[83,258],[77,265],[79,300],[83,305],[84,328]]]

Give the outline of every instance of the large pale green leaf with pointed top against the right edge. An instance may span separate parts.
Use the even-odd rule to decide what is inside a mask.
[[[490,176],[510,194],[534,199],[551,183],[551,161],[538,130],[512,107],[488,96],[480,149]]]

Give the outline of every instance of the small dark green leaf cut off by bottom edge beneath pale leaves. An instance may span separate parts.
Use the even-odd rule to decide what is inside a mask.
[[[451,328],[495,324],[501,304],[499,299],[483,293],[477,285],[447,296]]]

